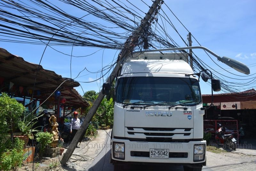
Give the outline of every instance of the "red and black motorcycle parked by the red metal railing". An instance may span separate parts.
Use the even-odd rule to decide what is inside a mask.
[[[232,134],[224,134],[225,127],[220,127],[216,132],[215,142],[216,144],[223,146],[228,145],[232,150],[236,150],[237,140]]]

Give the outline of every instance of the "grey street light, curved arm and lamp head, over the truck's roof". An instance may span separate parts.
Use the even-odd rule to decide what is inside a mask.
[[[203,46],[188,46],[188,47],[180,47],[180,48],[167,48],[167,49],[155,49],[155,50],[148,50],[148,51],[136,51],[133,53],[147,53],[147,52],[157,52],[157,51],[176,51],[176,50],[186,50],[186,49],[203,49],[209,53],[211,53],[213,56],[215,56],[219,61],[223,62],[224,64],[230,66],[231,68],[235,69],[236,71],[244,74],[250,74],[250,69],[243,64],[242,62],[239,62],[235,59],[228,58],[228,57],[220,57],[213,51],[207,49]]]

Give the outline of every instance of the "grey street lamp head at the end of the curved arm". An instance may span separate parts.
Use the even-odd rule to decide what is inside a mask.
[[[244,73],[247,75],[250,74],[250,69],[246,65],[244,65],[242,62],[239,62],[232,58],[228,58],[226,56],[224,56],[222,58],[219,56],[218,60],[220,60],[224,64],[230,66],[231,68],[235,69],[236,71],[238,71],[240,73]]]

